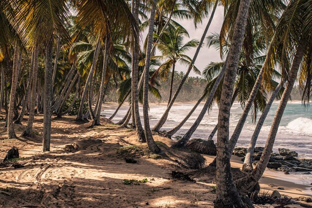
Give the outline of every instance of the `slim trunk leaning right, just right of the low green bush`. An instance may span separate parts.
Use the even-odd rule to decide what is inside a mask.
[[[89,89],[90,80],[93,77],[96,61],[97,61],[97,59],[99,57],[100,48],[101,48],[101,39],[99,38],[98,42],[97,42],[97,45],[95,47],[93,61],[92,61],[92,66],[91,66],[91,69],[90,69],[90,72],[89,72],[89,75],[88,75],[88,78],[87,78],[87,81],[86,81],[86,84],[85,84],[85,88],[84,88],[82,96],[81,96],[79,111],[78,111],[78,115],[77,115],[77,118],[76,118],[77,121],[83,121],[84,120],[84,118],[83,118],[83,105],[84,105],[85,98],[86,98],[86,95],[87,95],[87,92],[88,92],[88,89]]]

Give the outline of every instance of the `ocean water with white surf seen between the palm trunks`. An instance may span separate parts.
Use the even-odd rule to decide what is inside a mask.
[[[268,138],[268,134],[271,128],[271,124],[275,115],[275,112],[278,107],[278,102],[275,102],[267,116],[267,119],[262,127],[260,132],[257,145],[263,147]],[[162,130],[170,130],[175,127],[190,111],[194,104],[192,103],[177,103],[174,104],[171,108],[167,121],[163,125]],[[183,136],[185,132],[190,128],[193,122],[196,120],[199,112],[202,109],[203,104],[200,104],[193,115],[188,119],[184,126],[173,136]],[[285,109],[278,134],[275,140],[274,152],[278,152],[278,148],[288,148],[290,150],[296,151],[299,154],[299,157],[303,158],[312,158],[312,106],[305,107],[302,103],[299,102],[289,102]],[[115,111],[116,105],[107,106],[104,110],[104,114],[109,118]],[[162,113],[166,109],[166,104],[151,104],[150,105],[150,125],[153,127]],[[118,122],[123,118],[125,113],[128,110],[128,106],[124,105],[119,110],[118,114],[113,119],[113,122]],[[140,106],[141,115],[142,106]],[[231,117],[230,117],[230,136],[234,131],[237,122],[241,116],[242,107],[239,103],[234,103],[231,108]],[[258,113],[260,118],[261,112]],[[141,116],[143,119],[143,116]],[[258,120],[257,120],[258,121]],[[201,138],[206,139],[209,137],[212,129],[218,122],[218,106],[213,106],[212,110],[207,113],[197,130],[194,132],[191,138]],[[143,121],[142,121],[143,124]],[[250,115],[247,118],[247,121],[244,125],[243,131],[237,142],[238,147],[248,147],[251,136],[254,132],[256,124],[252,122],[252,116]],[[216,135],[213,138],[216,141]]]

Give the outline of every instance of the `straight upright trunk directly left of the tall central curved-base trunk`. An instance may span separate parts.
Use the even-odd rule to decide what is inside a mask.
[[[139,1],[136,0],[136,2],[134,3],[134,0],[132,1],[132,11],[135,15],[135,18],[138,22],[138,18],[139,18],[139,13],[138,13],[138,9],[139,8]],[[136,11],[135,11],[136,10]],[[139,53],[139,42],[137,42],[135,40],[135,50],[132,53],[132,88],[133,88],[133,113],[134,116],[133,118],[135,119],[135,121],[132,121],[133,124],[136,125],[136,130],[137,130],[137,134],[138,134],[138,140],[140,142],[146,142],[146,138],[145,138],[145,134],[144,134],[144,130],[142,127],[142,123],[141,123],[141,118],[140,118],[140,111],[139,111],[139,90],[138,90],[138,77],[139,77],[139,60],[138,60],[138,53]]]

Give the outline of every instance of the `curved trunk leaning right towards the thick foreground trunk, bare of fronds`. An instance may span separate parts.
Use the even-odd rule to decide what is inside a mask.
[[[201,109],[197,119],[195,120],[195,122],[193,123],[193,125],[191,126],[191,128],[186,132],[186,134],[184,134],[184,136],[182,137],[182,139],[180,139],[179,141],[177,141],[176,143],[174,143],[171,147],[172,148],[181,148],[181,147],[185,147],[187,142],[189,141],[189,139],[191,138],[192,134],[195,132],[195,130],[197,129],[197,127],[199,126],[201,120],[204,118],[212,100],[213,100],[213,96],[215,94],[215,92],[218,89],[218,86],[223,78],[223,75],[226,71],[226,65],[227,65],[227,58],[225,60],[225,63],[222,67],[222,70],[220,71],[220,74],[218,75],[218,78],[216,79],[215,83],[213,84],[213,87],[210,91],[210,94],[203,106],[203,108]]]

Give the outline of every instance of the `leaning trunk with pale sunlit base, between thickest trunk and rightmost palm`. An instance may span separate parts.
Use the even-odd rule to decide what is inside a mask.
[[[283,86],[284,82],[281,81],[279,83],[279,85],[275,88],[275,90],[273,91],[266,107],[264,108],[260,118],[259,118],[259,121],[257,123],[257,126],[256,126],[256,129],[254,131],[254,134],[252,135],[251,137],[251,140],[250,140],[250,143],[249,143],[249,146],[248,146],[248,149],[247,149],[247,154],[246,154],[246,157],[245,157],[245,160],[244,160],[244,165],[243,165],[243,171],[245,172],[251,172],[253,170],[253,167],[252,167],[252,163],[253,163],[253,153],[254,153],[254,149],[255,149],[255,146],[256,146],[256,143],[257,143],[257,139],[258,139],[258,136],[259,136],[259,133],[260,133],[260,130],[264,124],[264,121],[266,120],[267,118],[267,115],[270,111],[270,108],[272,106],[272,103],[273,101],[275,100],[275,98],[277,97],[277,95],[279,94],[280,90],[282,89],[282,86]]]

